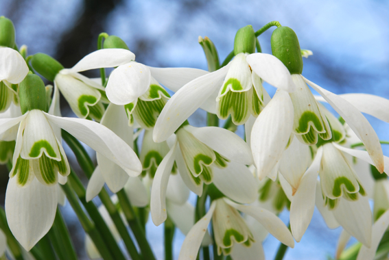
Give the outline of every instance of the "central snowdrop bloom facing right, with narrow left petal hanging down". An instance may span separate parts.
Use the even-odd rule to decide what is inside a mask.
[[[239,136],[219,127],[183,125],[172,137],[169,153],[156,170],[151,193],[152,220],[157,226],[167,217],[165,195],[174,162],[182,181],[198,196],[203,183],[214,183],[241,203],[257,196],[257,184],[245,164],[252,164],[250,148]]]

